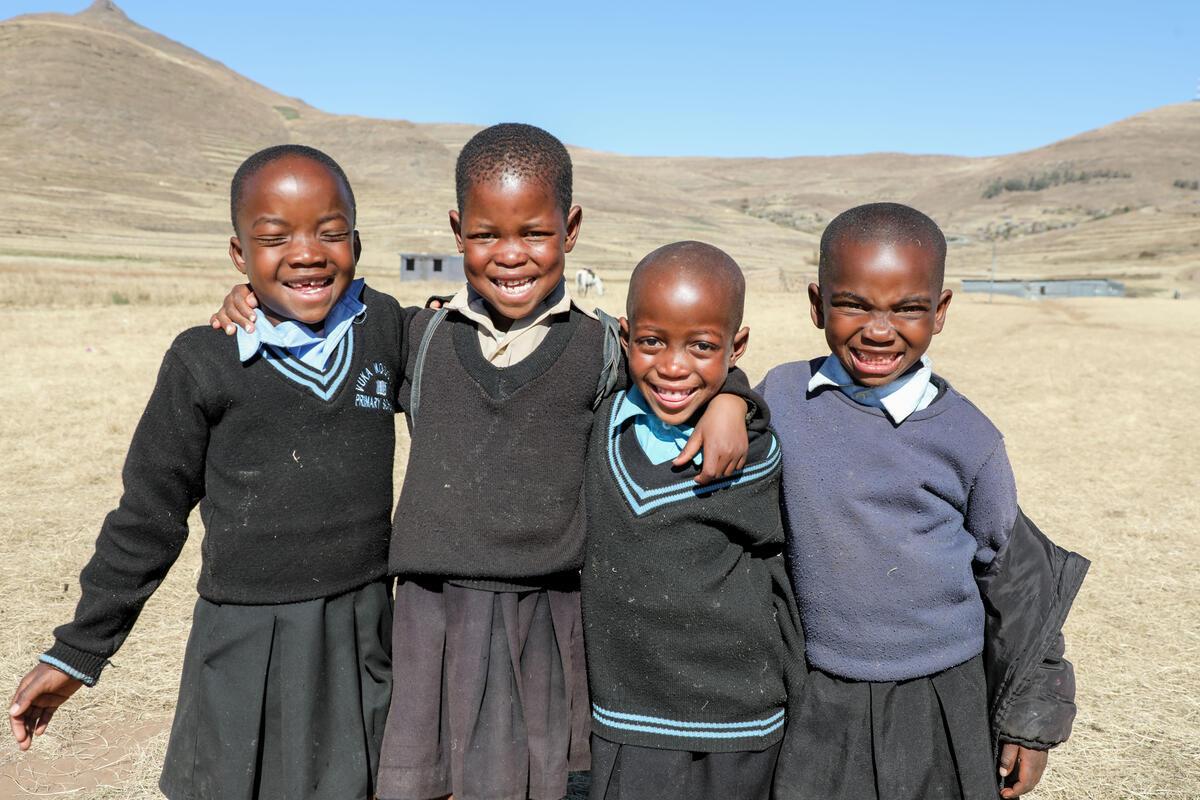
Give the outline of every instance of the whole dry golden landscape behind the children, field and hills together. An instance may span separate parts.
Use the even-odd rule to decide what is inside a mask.
[[[164,349],[238,277],[221,260],[236,164],[281,142],[326,149],[359,198],[360,272],[414,303],[448,287],[401,284],[398,252],[452,246],[454,160],[476,128],[328,114],[107,0],[0,20],[0,692],[11,693],[73,610]],[[986,275],[994,253],[1002,278],[1127,283],[1126,299],[960,294],[931,350],[1006,432],[1026,511],[1093,561],[1067,625],[1080,714],[1042,799],[1200,799],[1198,131],[1200,103],[1182,103],[985,158],[571,149],[584,207],[571,265],[602,275],[602,305],[620,309],[629,269],[652,247],[721,246],[750,277],[752,378],[823,350],[797,290],[824,223],[857,203],[934,216],[952,241],[952,287]],[[32,752],[0,746],[0,799],[158,796],[202,534],[193,518],[100,686]]]

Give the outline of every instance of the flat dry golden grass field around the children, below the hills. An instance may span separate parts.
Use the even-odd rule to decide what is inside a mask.
[[[206,319],[235,273],[76,264],[64,267],[73,281],[32,279],[17,260],[0,270],[17,287],[0,308],[0,691],[11,692],[73,609],[162,353]],[[366,277],[409,303],[430,289],[390,271]],[[613,289],[602,305],[617,312],[624,287]],[[803,303],[751,293],[751,378],[821,350]],[[1022,505],[1093,560],[1067,626],[1079,720],[1037,798],[1200,798],[1198,337],[1195,300],[960,295],[935,339],[937,369],[1006,432]],[[402,444],[397,481],[404,455]],[[0,748],[0,798],[157,796],[200,535],[193,519],[104,680],[30,753]]]

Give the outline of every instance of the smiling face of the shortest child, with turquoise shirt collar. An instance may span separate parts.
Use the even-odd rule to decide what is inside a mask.
[[[730,295],[714,278],[659,271],[620,320],[630,378],[667,425],[698,416],[745,351],[750,329],[737,330]]]

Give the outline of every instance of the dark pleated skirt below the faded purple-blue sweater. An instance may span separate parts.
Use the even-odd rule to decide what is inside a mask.
[[[899,682],[811,670],[781,758],[805,800],[997,800],[983,660]]]

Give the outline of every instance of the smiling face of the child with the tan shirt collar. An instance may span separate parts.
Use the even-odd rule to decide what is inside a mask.
[[[558,288],[582,211],[563,215],[548,186],[502,174],[467,191],[450,227],[467,281],[482,295],[497,325],[528,317]]]

